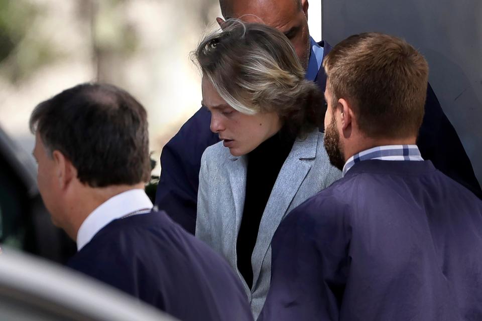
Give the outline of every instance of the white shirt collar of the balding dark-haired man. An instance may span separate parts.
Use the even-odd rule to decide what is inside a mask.
[[[129,190],[111,197],[90,213],[80,225],[77,232],[77,251],[113,220],[140,210],[150,210],[152,207],[151,200],[141,189]]]

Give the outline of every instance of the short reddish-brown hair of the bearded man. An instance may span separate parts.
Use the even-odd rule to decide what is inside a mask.
[[[344,98],[359,129],[372,138],[406,138],[422,124],[428,64],[404,40],[380,33],[353,35],[327,55],[323,67],[333,106]]]

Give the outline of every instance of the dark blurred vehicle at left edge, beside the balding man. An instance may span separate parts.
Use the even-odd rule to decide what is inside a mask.
[[[52,224],[36,177],[33,157],[0,128],[0,244],[65,263],[76,245]]]

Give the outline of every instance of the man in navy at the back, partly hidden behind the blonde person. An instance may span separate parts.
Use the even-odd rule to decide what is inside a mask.
[[[306,69],[306,79],[324,91],[326,76],[321,62],[331,47],[309,36],[308,0],[220,0],[219,4],[225,18],[261,22],[283,32]],[[221,18],[217,21],[223,22]],[[190,233],[195,230],[201,155],[219,141],[209,129],[210,118],[209,111],[200,108],[161,154],[162,172],[155,203]],[[482,196],[470,160],[430,85],[418,145],[422,156],[442,173]]]

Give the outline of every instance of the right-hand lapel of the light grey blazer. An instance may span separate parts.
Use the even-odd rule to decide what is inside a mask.
[[[256,286],[264,257],[278,225],[311,169],[316,157],[318,128],[304,140],[297,139],[281,167],[260,223],[256,246],[253,250],[253,285]],[[245,186],[246,188],[246,186]]]

